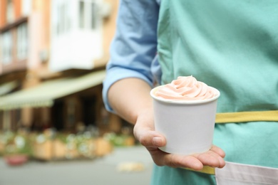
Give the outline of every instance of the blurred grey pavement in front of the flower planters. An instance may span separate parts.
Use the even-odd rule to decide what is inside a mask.
[[[38,162],[9,166],[0,158],[0,185],[144,185],[153,162],[144,147],[116,147],[112,154],[90,160]]]

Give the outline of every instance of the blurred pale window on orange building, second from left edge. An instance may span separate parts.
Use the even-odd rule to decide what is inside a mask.
[[[28,53],[28,28],[27,23],[21,23],[17,28],[17,58],[24,60]]]

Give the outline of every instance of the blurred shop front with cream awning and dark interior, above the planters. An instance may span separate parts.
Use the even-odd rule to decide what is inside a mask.
[[[95,127],[100,134],[120,132],[122,120],[108,113],[101,95],[105,71],[48,80],[34,88],[0,97],[0,129],[27,128],[78,132]]]

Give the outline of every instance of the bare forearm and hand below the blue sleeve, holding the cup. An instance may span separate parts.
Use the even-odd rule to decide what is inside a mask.
[[[153,122],[153,100],[150,85],[138,78],[125,78],[114,83],[108,91],[108,100],[113,110],[128,122],[135,124],[134,135],[145,146],[158,166],[185,167],[200,170],[204,165],[222,168],[225,152],[213,146],[202,154],[182,156],[168,154],[158,147],[166,144],[163,135],[155,132]]]

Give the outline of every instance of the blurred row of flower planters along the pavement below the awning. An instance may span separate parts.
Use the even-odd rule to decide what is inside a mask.
[[[102,157],[113,151],[113,144],[103,137],[93,137],[89,132],[82,134],[53,133],[51,130],[43,133],[6,132],[0,134],[0,154],[2,150],[4,157],[8,157],[6,162],[23,164],[28,161],[28,157],[46,161]]]

